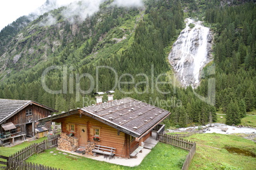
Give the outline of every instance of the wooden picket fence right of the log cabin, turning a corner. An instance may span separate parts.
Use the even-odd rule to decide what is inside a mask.
[[[170,134],[159,134],[159,141],[189,151],[182,167],[182,170],[187,170],[191,160],[194,157],[194,154],[196,154],[196,143],[185,140],[178,136],[172,136]]]

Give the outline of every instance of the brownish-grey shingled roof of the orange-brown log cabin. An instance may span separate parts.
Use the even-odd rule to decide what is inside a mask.
[[[104,122],[134,137],[143,135],[171,114],[167,110],[132,98],[123,98],[108,103],[83,107],[80,108],[80,110],[82,110],[85,115]],[[44,119],[48,121],[48,119],[53,120],[66,117],[71,115],[71,112],[55,115],[51,118],[46,117]],[[72,113],[75,114],[76,112]]]

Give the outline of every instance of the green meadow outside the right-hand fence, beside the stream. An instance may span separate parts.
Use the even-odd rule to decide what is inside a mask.
[[[255,169],[256,167],[255,157],[231,154],[224,148],[237,147],[256,154],[256,144],[253,141],[231,134],[216,133],[193,134],[187,139],[197,143],[196,154],[189,169]]]

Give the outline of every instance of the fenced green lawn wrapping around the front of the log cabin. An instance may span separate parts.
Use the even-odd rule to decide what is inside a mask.
[[[79,159],[58,153],[55,148],[45,150],[27,159],[27,162],[43,164],[60,169],[181,169],[188,151],[164,143],[158,143],[137,167],[125,167],[81,157]]]

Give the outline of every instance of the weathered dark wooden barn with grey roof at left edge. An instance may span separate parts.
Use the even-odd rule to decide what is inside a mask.
[[[0,146],[14,144],[27,137],[45,136],[51,122],[39,123],[38,119],[57,112],[31,100],[0,99]]]

